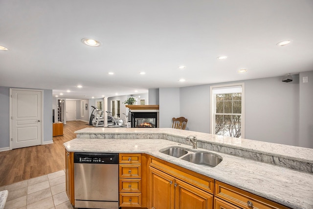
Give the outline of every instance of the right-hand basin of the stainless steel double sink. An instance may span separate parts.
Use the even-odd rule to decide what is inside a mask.
[[[199,165],[205,165],[209,167],[215,167],[222,162],[223,158],[213,153],[196,152],[186,155],[181,158],[184,161],[195,163]]]

